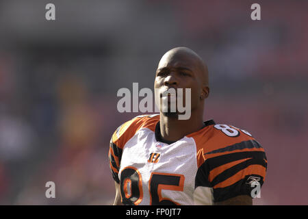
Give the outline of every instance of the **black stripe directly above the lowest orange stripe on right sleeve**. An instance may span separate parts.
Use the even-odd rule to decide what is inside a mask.
[[[261,166],[264,166],[265,168],[267,166],[266,162],[264,162],[264,159],[248,159],[240,164],[236,164],[235,166],[232,166],[231,168],[221,172],[211,181],[211,186],[214,187],[218,183],[221,183],[222,181],[228,179],[229,177],[232,177],[233,175],[235,175],[235,173],[239,172],[240,170],[244,170],[244,168],[247,168],[248,166],[251,166],[253,164],[259,164]]]

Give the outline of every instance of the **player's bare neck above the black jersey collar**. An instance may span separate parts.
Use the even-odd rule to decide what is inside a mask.
[[[159,125],[162,138],[168,141],[180,140],[204,127],[203,118],[198,114],[191,114],[189,120],[179,120],[179,118],[165,116],[161,113]]]

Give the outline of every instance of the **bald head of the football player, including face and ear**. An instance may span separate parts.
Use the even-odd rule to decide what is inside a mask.
[[[187,103],[190,103],[191,112],[202,118],[203,105],[205,99],[209,96],[207,66],[192,49],[187,47],[170,49],[159,61],[154,88],[157,90],[157,93],[155,93],[156,103],[162,102],[162,95],[170,88],[183,89],[183,99],[185,100],[185,90],[188,88],[190,94],[188,94],[187,101],[189,102]],[[167,105],[164,106],[167,107]],[[168,116],[168,114],[165,115]]]

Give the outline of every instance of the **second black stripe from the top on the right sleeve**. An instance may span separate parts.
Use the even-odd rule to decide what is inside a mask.
[[[230,162],[234,162],[239,159],[245,159],[252,157],[257,160],[263,160],[266,159],[266,154],[264,151],[244,151],[244,152],[236,152],[236,153],[229,153],[227,155],[220,155],[217,157],[211,157],[208,159],[205,159],[205,164],[208,165],[208,171],[213,170],[214,168],[218,166],[222,166],[224,164],[228,164]],[[203,165],[202,165],[203,166]]]

